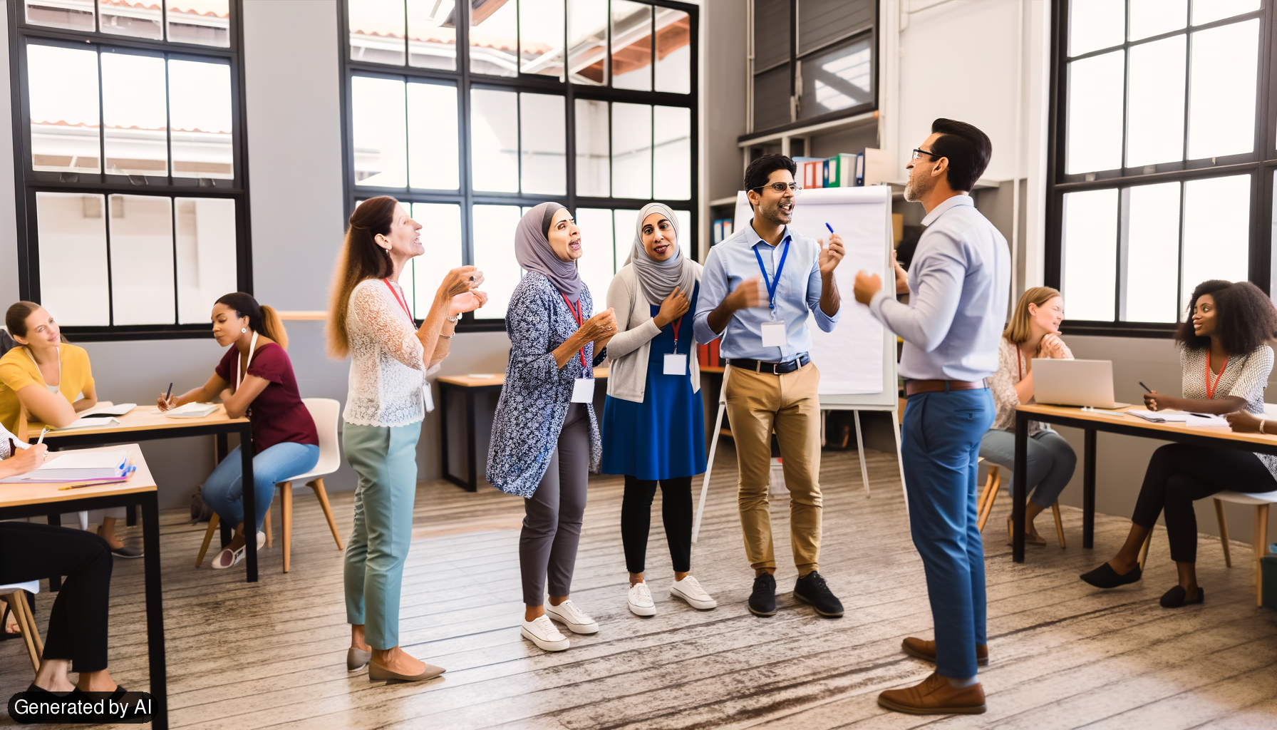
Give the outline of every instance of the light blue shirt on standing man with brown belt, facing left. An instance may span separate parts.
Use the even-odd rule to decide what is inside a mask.
[[[909,303],[891,281],[870,312],[904,340],[900,375],[911,380],[976,381],[997,371],[997,340],[1006,323],[1011,253],[1006,239],[954,196],[931,210],[909,265]]]

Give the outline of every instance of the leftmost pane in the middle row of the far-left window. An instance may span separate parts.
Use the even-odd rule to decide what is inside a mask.
[[[32,167],[97,173],[97,54],[28,45],[27,91]]]

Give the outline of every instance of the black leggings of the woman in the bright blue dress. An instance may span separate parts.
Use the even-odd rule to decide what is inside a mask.
[[[626,569],[642,573],[651,529],[651,500],[656,481],[626,474],[626,496],[621,501],[621,542],[626,546]],[[692,478],[674,477],[660,482],[660,516],[665,523],[669,560],[674,573],[692,569]]]

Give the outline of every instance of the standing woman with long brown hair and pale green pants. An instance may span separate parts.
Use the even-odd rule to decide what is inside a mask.
[[[359,474],[355,529],[346,543],[346,619],[351,625],[346,669],[368,665],[374,681],[423,680],[443,672],[398,647],[416,441],[425,412],[434,408],[425,376],[448,357],[457,317],[488,300],[478,290],[483,274],[474,266],[453,268],[416,327],[398,277],[409,260],[425,253],[420,233],[421,224],[389,196],[360,203],[350,215],[328,304],[328,353],[350,357],[342,445]]]

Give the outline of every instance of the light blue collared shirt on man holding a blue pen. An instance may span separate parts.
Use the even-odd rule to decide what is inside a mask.
[[[723,298],[734,291],[741,281],[762,274],[755,249],[762,257],[767,281],[775,281],[776,266],[785,253],[785,243],[789,243],[789,254],[784,268],[780,270],[780,281],[776,284],[775,311],[775,320],[785,322],[785,346],[762,346],[762,323],[770,322],[773,315],[766,306],[751,307],[737,309],[728,320],[722,332],[719,354],[724,358],[764,362],[792,361],[811,349],[811,332],[807,331],[808,312],[816,316],[816,326],[822,331],[833,331],[842,311],[830,317],[820,309],[820,244],[801,233],[790,231],[787,226],[780,243],[775,247],[769,245],[755,233],[751,220],[750,225],[736,235],[711,248],[709,258],[705,260],[701,293],[693,318],[699,341],[707,343],[719,336],[720,332],[711,330],[707,320],[710,312],[723,303]]]

